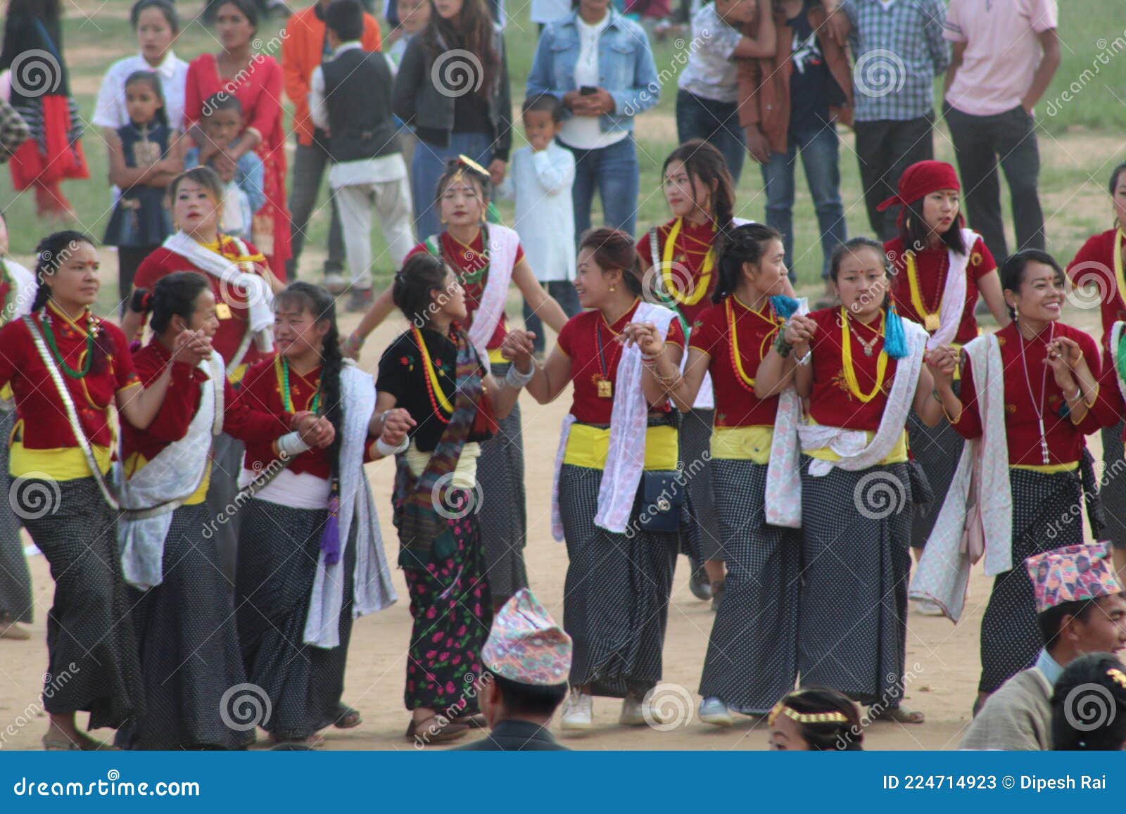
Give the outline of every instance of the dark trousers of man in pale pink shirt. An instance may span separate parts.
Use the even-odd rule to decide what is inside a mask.
[[[993,116],[972,116],[946,105],[942,116],[954,138],[967,218],[981,233],[998,265],[1009,257],[1001,220],[998,164],[1009,184],[1017,251],[1043,249],[1044,212],[1037,194],[1040,150],[1036,141],[1036,119],[1020,105]]]

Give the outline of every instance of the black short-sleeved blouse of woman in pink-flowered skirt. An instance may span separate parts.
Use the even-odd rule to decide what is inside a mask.
[[[457,377],[457,346],[448,337],[437,331],[423,328],[419,331],[430,354],[430,363],[435,366],[438,384],[449,403],[454,402],[454,387]],[[411,428],[410,437],[419,451],[432,453],[446,431],[446,423],[434,414],[430,394],[427,390],[426,363],[414,343],[411,331],[399,334],[379,359],[379,376],[375,383],[379,393],[395,396],[395,406],[401,406],[411,414],[415,426]],[[486,441],[488,433],[470,432],[467,441]]]

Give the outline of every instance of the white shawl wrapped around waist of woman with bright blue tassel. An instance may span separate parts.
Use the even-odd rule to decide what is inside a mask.
[[[875,466],[886,458],[899,442],[919,386],[919,373],[922,369],[928,339],[922,325],[909,320],[902,320],[902,323],[908,340],[908,355],[899,359],[895,365],[895,378],[887,395],[887,405],[870,442],[863,430],[804,424],[798,421],[795,432],[789,421],[786,421],[785,427],[776,423],[770,445],[770,464],[767,467],[767,522],[788,528],[799,528],[802,525],[799,444],[802,450],[829,447],[840,456],[840,460],[814,458],[810,462],[810,474],[821,477],[832,472],[834,466],[849,472]],[[796,399],[796,394],[793,394],[793,400],[787,399],[785,404],[779,399],[779,413],[785,406],[786,418],[792,419]]]

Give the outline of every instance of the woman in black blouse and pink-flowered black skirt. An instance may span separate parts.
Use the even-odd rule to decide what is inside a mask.
[[[461,328],[468,306],[457,276],[431,254],[408,258],[393,293],[412,325],[379,359],[373,424],[386,427],[397,412],[411,428],[402,444],[377,451],[397,456],[393,502],[399,564],[414,619],[404,694],[411,712],[406,737],[432,743],[465,734],[465,721],[447,721],[450,706],[458,706],[465,719],[477,713],[476,699],[464,690],[472,676],[481,674],[481,647],[493,610],[477,510],[490,499],[506,499],[480,491],[482,442],[495,432],[494,419],[503,419],[516,404],[527,378],[519,372],[530,368],[531,351],[513,343],[521,337],[506,340],[517,367],[508,369],[500,386]]]

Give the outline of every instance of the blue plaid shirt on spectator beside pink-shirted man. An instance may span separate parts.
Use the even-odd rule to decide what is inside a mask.
[[[851,29],[849,45],[857,122],[906,122],[935,110],[933,78],[950,54],[942,39],[942,0],[843,0]]]

